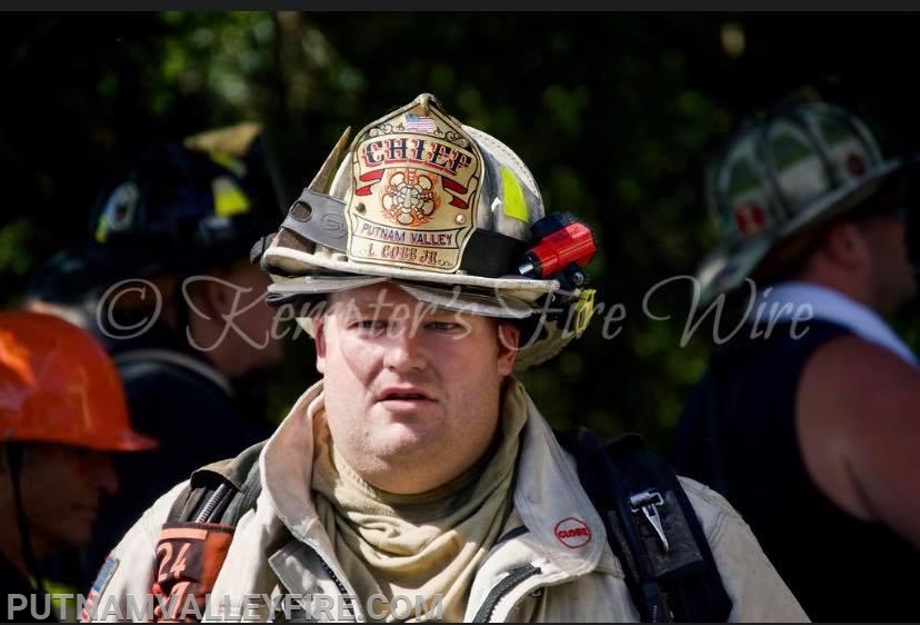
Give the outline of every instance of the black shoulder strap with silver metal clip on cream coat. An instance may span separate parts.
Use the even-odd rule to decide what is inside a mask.
[[[612,443],[586,428],[556,435],[576,458],[642,621],[727,621],[731,599],[673,469],[637,435]]]

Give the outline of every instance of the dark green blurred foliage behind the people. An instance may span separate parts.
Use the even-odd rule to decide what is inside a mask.
[[[292,200],[346,126],[430,91],[510,145],[550,210],[594,227],[598,301],[626,310],[524,376],[538,405],[556,425],[641,430],[663,448],[713,327],[681,340],[687,282],[652,298],[670,320],[642,301],[714,241],[706,162],[746,113],[806,83],[862,113],[887,151],[917,146],[918,26],[912,13],[6,14],[0,304],[88,231],[107,173],[152,141],[261,120]],[[912,318],[899,321],[909,338]],[[272,417],[313,379],[301,335]]]

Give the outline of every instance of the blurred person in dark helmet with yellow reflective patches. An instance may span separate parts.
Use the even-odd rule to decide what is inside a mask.
[[[119,458],[92,574],[164,485],[272,431],[269,369],[282,357],[253,242],[282,214],[258,125],[154,146],[103,188],[92,239],[37,271],[27,306],[63,308],[104,343],[139,431],[158,449]],[[91,578],[91,577],[90,577]]]

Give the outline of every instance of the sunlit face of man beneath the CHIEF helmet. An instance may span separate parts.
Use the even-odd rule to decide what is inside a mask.
[[[392,493],[457,477],[496,433],[518,337],[510,325],[433,308],[392,285],[332,296],[316,339],[336,447]]]

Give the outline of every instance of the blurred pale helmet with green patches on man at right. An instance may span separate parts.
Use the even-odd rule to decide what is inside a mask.
[[[721,244],[700,265],[700,299],[742,284],[778,244],[859,207],[901,170],[854,115],[826,102],[778,107],[748,120],[709,170]]]

